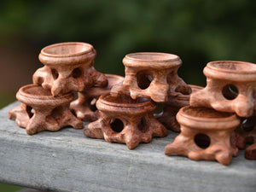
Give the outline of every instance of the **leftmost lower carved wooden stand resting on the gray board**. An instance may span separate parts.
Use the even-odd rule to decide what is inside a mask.
[[[58,131],[61,127],[71,125],[75,129],[83,127],[69,109],[73,94],[51,96],[50,90],[44,90],[36,84],[28,84],[20,88],[16,95],[20,106],[9,111],[9,119],[26,128],[29,135],[39,131]]]

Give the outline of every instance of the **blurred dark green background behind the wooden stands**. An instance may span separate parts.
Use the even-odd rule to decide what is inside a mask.
[[[124,75],[122,59],[131,52],[176,54],[179,76],[205,85],[208,61],[256,62],[255,10],[253,0],[2,0],[0,107],[32,83],[40,49],[67,41],[93,44],[102,73]]]

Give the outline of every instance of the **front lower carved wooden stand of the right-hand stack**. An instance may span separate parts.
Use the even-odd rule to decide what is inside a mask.
[[[165,148],[167,155],[180,154],[192,160],[218,160],[229,165],[237,155],[230,137],[240,120],[236,114],[219,113],[211,108],[181,108],[177,113],[181,133]]]

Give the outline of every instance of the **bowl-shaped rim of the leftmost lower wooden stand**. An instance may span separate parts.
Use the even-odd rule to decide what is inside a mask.
[[[45,90],[37,84],[27,84],[20,88],[16,95],[20,102],[33,106],[59,106],[63,103],[72,102],[73,94],[67,93],[61,96],[52,96],[50,90]]]

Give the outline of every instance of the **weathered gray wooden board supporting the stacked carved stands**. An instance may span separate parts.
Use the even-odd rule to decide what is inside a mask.
[[[0,111],[0,183],[56,191],[256,191],[256,160],[244,151],[230,166],[166,156],[177,134],[129,150],[64,128],[33,136]]]

